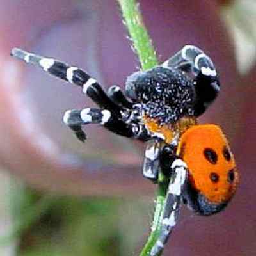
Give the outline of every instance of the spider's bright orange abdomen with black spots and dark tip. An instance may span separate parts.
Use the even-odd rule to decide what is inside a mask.
[[[177,154],[188,164],[189,206],[204,215],[221,211],[234,195],[239,175],[220,127],[190,127],[180,138]]]

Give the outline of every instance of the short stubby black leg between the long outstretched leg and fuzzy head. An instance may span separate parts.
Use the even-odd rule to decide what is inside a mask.
[[[126,99],[124,93],[119,86],[113,85],[109,87],[108,97],[121,108],[132,109],[132,102]]]

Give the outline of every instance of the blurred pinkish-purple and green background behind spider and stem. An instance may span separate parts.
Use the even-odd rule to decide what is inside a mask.
[[[185,44],[198,45],[214,60],[221,93],[200,121],[223,127],[241,172],[237,195],[224,212],[202,218],[182,211],[163,255],[254,255],[255,1],[140,3],[159,60]],[[137,255],[155,189],[141,175],[144,145],[93,125],[86,127],[86,143],[79,143],[62,115],[92,102],[79,88],[10,58],[12,47],[22,47],[83,67],[106,88],[124,85],[139,63],[116,1],[1,0],[0,21],[1,234],[21,223],[1,255]],[[48,206],[37,212],[42,198]],[[80,248],[77,243],[81,250],[72,249]]]

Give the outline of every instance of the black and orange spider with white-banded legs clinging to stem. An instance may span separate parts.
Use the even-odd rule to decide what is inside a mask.
[[[100,124],[109,131],[147,143],[143,175],[157,182],[159,170],[168,177],[159,239],[150,256],[163,250],[177,223],[181,202],[209,216],[220,212],[234,195],[239,175],[234,156],[218,125],[196,118],[216,99],[220,81],[211,58],[185,45],[162,65],[127,77],[108,93],[96,79],[67,63],[13,49],[12,56],[83,89],[99,108],[71,109],[63,122],[86,140],[82,126]]]

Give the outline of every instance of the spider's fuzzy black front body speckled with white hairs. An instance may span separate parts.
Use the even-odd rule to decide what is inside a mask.
[[[195,116],[193,80],[175,68],[156,67],[127,78],[125,92],[141,103],[141,114],[159,124],[173,124],[182,116]]]

